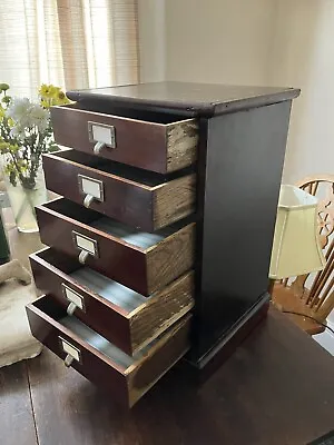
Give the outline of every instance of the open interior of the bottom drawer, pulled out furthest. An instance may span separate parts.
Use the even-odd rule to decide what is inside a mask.
[[[75,336],[80,338],[80,340],[89,344],[99,353],[104,354],[109,358],[118,368],[121,368],[122,373],[127,373],[128,368],[132,368],[141,362],[144,357],[148,355],[148,352],[157,344],[159,340],[168,335],[168,330],[164,332],[160,336],[150,342],[143,349],[137,352],[134,356],[129,356],[122,350],[120,350],[112,343],[108,342],[105,337],[86,326],[76,317],[68,316],[66,310],[60,307],[53,299],[48,296],[43,296],[36,300],[32,306],[37,307],[41,313],[46,314],[59,325],[69,329]],[[170,328],[173,329],[173,327]],[[131,369],[132,370],[132,369]]]

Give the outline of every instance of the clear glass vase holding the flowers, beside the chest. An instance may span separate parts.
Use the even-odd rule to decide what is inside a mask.
[[[18,230],[29,234],[38,231],[35,206],[48,200],[42,166],[38,169],[33,189],[22,187],[20,181],[13,186],[9,177],[6,174],[3,176]]]

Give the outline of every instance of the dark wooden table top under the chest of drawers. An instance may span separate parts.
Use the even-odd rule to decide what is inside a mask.
[[[0,369],[0,442],[305,445],[334,427],[333,369],[276,309],[202,386],[174,368],[130,412],[43,350]]]

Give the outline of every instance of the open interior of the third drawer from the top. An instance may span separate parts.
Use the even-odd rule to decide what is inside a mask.
[[[105,216],[101,217],[99,212],[82,208],[80,205],[69,201],[66,198],[57,198],[45,204],[42,207],[55,210],[61,216],[84,222],[91,228],[101,230],[143,250],[157,245],[185,226],[185,222],[179,221],[151,234],[135,229],[115,219]]]

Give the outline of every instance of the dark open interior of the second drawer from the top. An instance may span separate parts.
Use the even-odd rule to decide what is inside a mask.
[[[154,171],[144,170],[141,168],[136,168],[131,166],[126,166],[120,162],[107,160],[98,156],[90,156],[82,151],[77,151],[73,149],[66,149],[47,155],[50,158],[63,159],[73,167],[88,167],[90,169],[96,169],[104,171],[106,174],[118,176],[120,178],[130,180],[132,182],[138,182],[139,185],[145,185],[147,187],[157,187],[173,179],[177,179],[181,176],[188,175],[194,168],[187,167],[183,170],[171,172],[168,175],[156,174]]]

